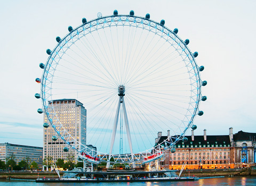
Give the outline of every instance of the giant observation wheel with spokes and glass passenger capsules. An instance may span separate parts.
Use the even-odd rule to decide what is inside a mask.
[[[188,48],[189,40],[150,19],[129,15],[102,16],[87,21],[57,37],[57,46],[47,49],[49,58],[43,69],[41,92],[43,109],[57,136],[79,157],[92,163],[147,163],[163,156],[185,133],[195,130],[193,123],[199,103],[205,101],[201,87],[197,52]],[[55,99],[72,98],[86,108],[86,144],[79,142],[57,117]],[[47,127],[46,123],[46,127]],[[155,138],[166,136],[161,142]],[[55,137],[55,136],[54,136]],[[79,148],[74,146],[74,141]],[[97,150],[88,145],[97,147]],[[93,157],[89,152],[94,151]]]

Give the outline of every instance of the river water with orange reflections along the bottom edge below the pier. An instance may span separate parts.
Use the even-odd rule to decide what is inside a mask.
[[[23,181],[5,181],[0,180],[0,186],[69,186],[69,185],[86,185],[86,186],[170,186],[170,185],[256,185],[256,177],[222,177],[201,179],[197,181],[186,182],[131,182],[131,183],[35,183]]]

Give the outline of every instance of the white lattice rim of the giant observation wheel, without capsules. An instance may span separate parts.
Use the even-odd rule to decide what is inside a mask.
[[[158,144],[157,146],[153,146],[149,149],[146,149],[145,151],[140,151],[137,153],[132,154],[113,154],[109,155],[108,153],[103,153],[101,151],[95,152],[95,154],[100,155],[101,159],[110,159],[111,157],[114,157],[116,162],[126,162],[126,160],[130,160],[131,156],[134,156],[134,160],[141,161],[143,157],[148,156],[151,153],[153,149],[160,149],[161,145],[164,145],[166,148],[171,148],[175,143],[177,143],[180,139],[182,139],[185,135],[185,132],[193,125],[194,118],[196,114],[198,113],[198,106],[199,102],[202,98],[201,95],[201,79],[199,74],[198,66],[195,62],[195,58],[193,54],[190,52],[187,45],[184,43],[183,40],[181,40],[173,31],[166,28],[165,26],[161,25],[160,23],[157,23],[153,20],[145,19],[139,16],[131,16],[131,15],[110,15],[110,16],[104,16],[98,19],[91,20],[89,22],[86,22],[85,24],[82,24],[81,26],[77,27],[76,29],[72,30],[68,35],[66,35],[61,41],[58,43],[58,45],[52,50],[42,75],[42,87],[41,87],[41,97],[42,97],[42,103],[44,107],[44,112],[54,128],[54,130],[57,132],[58,136],[67,143],[67,145],[70,148],[73,148],[77,150],[77,147],[79,146],[80,152],[86,151],[94,151],[94,149],[87,147],[86,145],[83,145],[81,142],[77,141],[74,137],[72,137],[69,132],[63,128],[61,128],[61,122],[60,124],[56,124],[52,121],[52,115],[54,115],[54,107],[49,106],[49,102],[52,102],[52,78],[54,77],[55,69],[58,65],[58,58],[61,58],[63,54],[66,53],[66,51],[69,49],[71,45],[73,45],[77,40],[79,40],[80,36],[83,35],[84,37],[86,34],[97,31],[102,28],[107,27],[115,27],[115,26],[130,26],[140,29],[147,29],[148,31],[154,32],[156,35],[161,36],[161,38],[165,39],[166,41],[169,40],[175,40],[175,43],[177,43],[180,48],[177,49],[177,52],[179,55],[184,59],[184,61],[188,62],[188,65],[191,64],[191,66],[188,66],[190,69],[190,81],[191,81],[191,87],[194,87],[193,96],[191,96],[190,102],[194,102],[193,109],[188,109],[189,114],[189,122],[185,128],[185,130],[181,131],[179,135],[172,138],[171,141],[168,141],[167,139],[164,140],[161,144]],[[191,88],[192,89],[192,88]],[[50,114],[51,111],[53,111],[53,114]],[[61,130],[61,132],[60,132]],[[76,141],[78,146],[72,145],[73,142]]]

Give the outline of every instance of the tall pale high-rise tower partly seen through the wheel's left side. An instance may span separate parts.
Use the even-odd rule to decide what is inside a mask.
[[[77,141],[86,145],[86,109],[81,102],[76,99],[57,99],[53,100],[55,113],[57,114],[52,120],[53,122],[58,120],[67,132],[73,136]],[[73,154],[76,158],[76,152],[69,150],[68,152],[63,151],[66,144],[58,138],[56,141],[52,140],[53,136],[57,136],[50,125],[47,116],[44,114],[44,123],[49,123],[48,128],[44,128],[43,139],[44,139],[44,157],[51,156],[53,162],[56,162],[58,158],[64,159],[67,162],[69,154]],[[77,144],[75,144],[77,145]],[[79,146],[77,147],[79,148]]]

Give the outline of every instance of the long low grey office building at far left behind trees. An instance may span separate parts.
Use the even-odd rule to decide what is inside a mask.
[[[29,163],[36,162],[38,168],[43,165],[43,147],[33,147],[26,145],[16,145],[12,143],[0,143],[0,159],[6,161],[6,158],[14,156],[18,164],[21,160],[29,159]]]

